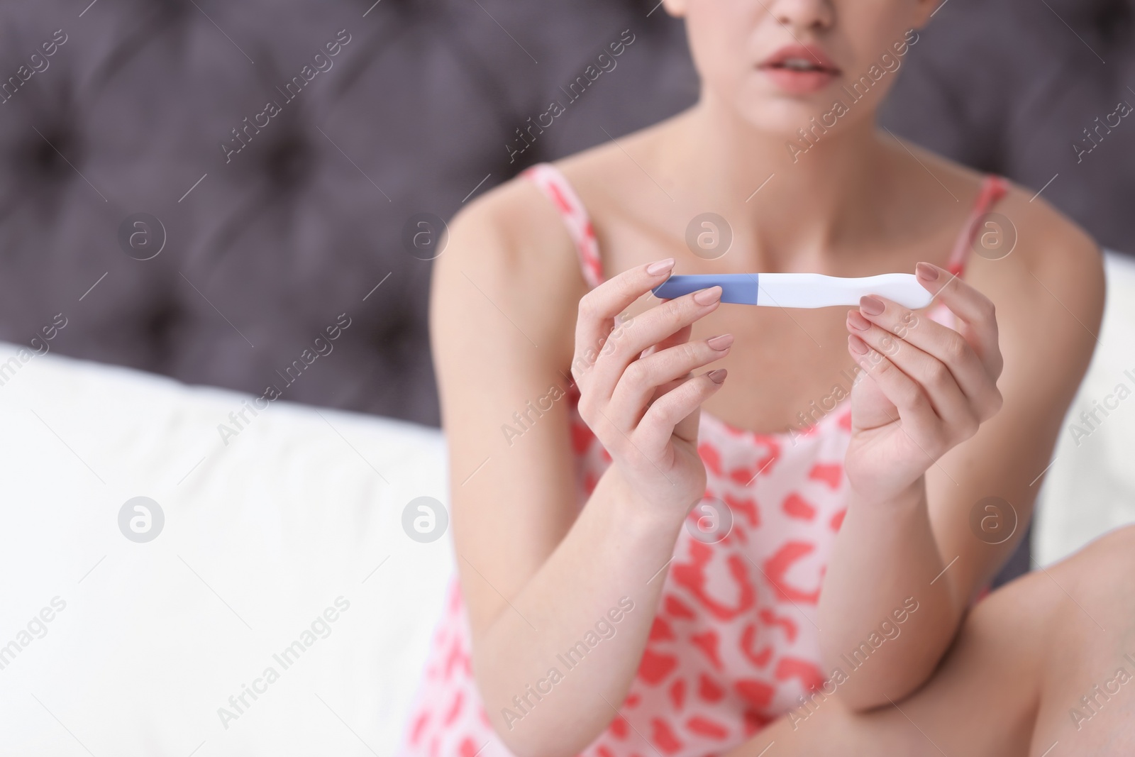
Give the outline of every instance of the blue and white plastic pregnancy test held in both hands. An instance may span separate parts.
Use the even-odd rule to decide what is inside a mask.
[[[671,276],[656,286],[656,297],[673,300],[711,286],[721,287],[721,301],[772,308],[830,308],[858,305],[859,297],[877,294],[917,310],[932,295],[914,274],[883,274],[842,278],[823,274],[697,274]]]

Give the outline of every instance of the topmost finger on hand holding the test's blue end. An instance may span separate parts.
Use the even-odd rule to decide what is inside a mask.
[[[673,258],[636,266],[613,276],[580,297],[579,316],[575,319],[572,373],[587,372],[606,344],[615,326],[615,317],[651,288],[665,281],[673,268]],[[579,381],[581,376],[574,378]]]

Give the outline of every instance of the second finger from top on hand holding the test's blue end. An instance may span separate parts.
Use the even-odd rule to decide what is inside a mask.
[[[721,305],[721,287],[713,286],[655,305],[629,323],[617,339],[599,352],[588,376],[588,388],[609,397],[632,361],[651,345],[672,336]]]

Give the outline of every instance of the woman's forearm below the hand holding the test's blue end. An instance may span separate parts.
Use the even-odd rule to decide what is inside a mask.
[[[481,697],[510,749],[574,755],[611,722],[638,670],[680,528],[638,502],[615,469],[599,480],[474,646]]]

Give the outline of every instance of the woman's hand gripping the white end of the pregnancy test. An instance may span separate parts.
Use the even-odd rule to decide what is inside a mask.
[[[1003,361],[993,303],[956,276],[918,263],[919,283],[958,318],[958,330],[880,297],[848,313],[848,352],[866,377],[851,392],[851,488],[886,501],[917,483],[949,449],[1001,409]]]

